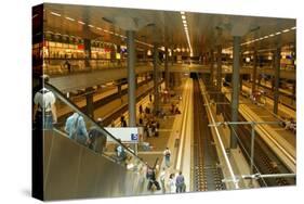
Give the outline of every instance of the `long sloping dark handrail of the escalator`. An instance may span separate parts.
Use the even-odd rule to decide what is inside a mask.
[[[145,162],[140,158],[135,153],[133,153],[132,151],[129,150],[129,148],[127,148],[123,143],[121,143],[116,137],[114,137],[109,131],[107,131],[104,127],[102,127],[100,124],[97,124],[92,117],[90,117],[89,115],[87,115],[85,113],[83,113],[82,111],[80,111],[79,107],[77,107],[76,104],[74,104],[74,102],[71,102],[69,99],[67,99],[57,88],[55,88],[54,86],[44,82],[44,87],[47,89],[49,89],[50,91],[52,91],[54,94],[56,94],[56,97],[58,97],[64,103],[66,103],[70,109],[72,109],[74,111],[80,113],[81,115],[84,115],[87,118],[90,119],[90,122],[97,127],[98,129],[101,129],[104,133],[106,133],[107,137],[110,137],[113,140],[115,140],[119,145],[121,145],[123,148],[124,151],[128,151],[129,154],[131,154],[132,156],[136,157],[136,160],[138,160],[140,162],[142,162],[143,164],[145,164]]]

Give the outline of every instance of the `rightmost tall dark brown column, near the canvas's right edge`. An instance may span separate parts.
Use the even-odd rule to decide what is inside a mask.
[[[279,104],[279,82],[280,82],[280,48],[275,53],[275,90],[274,90],[274,114],[278,114]]]

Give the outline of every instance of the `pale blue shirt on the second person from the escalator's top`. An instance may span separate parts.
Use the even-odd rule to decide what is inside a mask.
[[[65,130],[68,132],[68,137],[70,139],[74,131],[76,131],[76,135],[78,137],[85,137],[88,139],[88,131],[87,131],[84,119],[79,114],[72,114],[67,118],[65,124]]]

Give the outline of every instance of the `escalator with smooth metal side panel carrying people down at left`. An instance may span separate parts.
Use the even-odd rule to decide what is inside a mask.
[[[95,152],[68,138],[62,124],[43,130],[43,199],[130,196],[147,194],[145,163],[115,136],[81,112],[55,87],[45,85],[56,103],[84,119],[87,129],[94,126],[107,137],[105,151]],[[117,160],[116,146],[121,145],[127,160]]]

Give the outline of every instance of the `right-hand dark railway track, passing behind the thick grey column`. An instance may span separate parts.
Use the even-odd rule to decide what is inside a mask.
[[[206,79],[203,79],[206,81]],[[214,87],[207,87],[208,91],[214,91]],[[221,93],[221,99],[224,103],[230,103],[223,93]],[[225,122],[230,122],[232,109],[230,104],[220,104],[219,105]],[[238,114],[239,122],[246,122],[246,119]],[[251,126],[241,125],[236,128],[238,135],[238,144],[246,155],[246,160],[250,163],[250,148],[251,148]],[[257,132],[255,132],[255,145],[254,145],[254,174],[260,173],[262,175],[268,174],[291,174],[291,171],[286,167],[282,161],[269,149],[269,146],[264,142]],[[291,186],[295,184],[295,178],[263,178],[257,180],[261,187],[276,187],[276,186]]]

